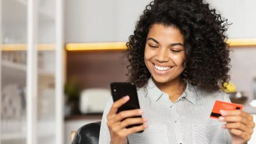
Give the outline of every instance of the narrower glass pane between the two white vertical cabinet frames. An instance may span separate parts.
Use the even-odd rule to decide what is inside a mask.
[[[38,2],[38,144],[55,143],[55,0]]]

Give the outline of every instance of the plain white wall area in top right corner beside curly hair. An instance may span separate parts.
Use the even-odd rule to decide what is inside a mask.
[[[230,38],[256,38],[255,0],[209,0],[230,23]]]

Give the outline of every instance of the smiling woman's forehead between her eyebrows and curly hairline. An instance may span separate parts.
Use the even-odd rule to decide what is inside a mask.
[[[161,24],[154,24],[150,27],[148,38],[154,38],[160,43],[176,43],[183,44],[184,38],[178,28],[173,26],[164,26]]]

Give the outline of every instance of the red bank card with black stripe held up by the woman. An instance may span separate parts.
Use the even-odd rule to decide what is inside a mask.
[[[220,110],[224,110],[224,111],[242,110],[243,107],[244,106],[238,105],[236,103],[215,101],[210,117],[218,119],[220,116],[222,116],[220,114]]]

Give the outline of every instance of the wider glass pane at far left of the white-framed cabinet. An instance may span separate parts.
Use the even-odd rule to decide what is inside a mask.
[[[2,0],[1,144],[26,143],[26,1]]]

